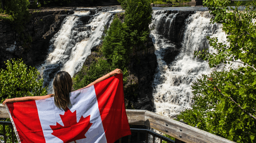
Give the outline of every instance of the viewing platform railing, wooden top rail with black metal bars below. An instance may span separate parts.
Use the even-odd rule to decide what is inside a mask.
[[[184,122],[180,122],[174,119],[169,119],[167,117],[158,115],[156,113],[147,111],[147,110],[132,110],[126,109],[127,117],[129,125],[140,125],[147,127],[149,129],[133,129],[132,136],[134,133],[137,133],[136,142],[131,142],[130,136],[123,137],[124,139],[119,139],[115,143],[140,143],[140,133],[146,133],[145,141],[148,143],[148,135],[151,134],[153,136],[153,143],[155,143],[155,138],[160,139],[160,143],[162,141],[166,141],[167,143],[235,143],[225,138],[219,137],[217,135],[211,134],[209,132],[197,129],[195,127],[189,126]],[[0,118],[10,118],[9,113],[6,110],[6,107],[0,104]],[[11,122],[0,121],[0,124],[3,125],[3,129],[5,129],[5,125],[11,126]],[[151,129],[156,131],[160,131],[169,136],[175,138],[175,141],[160,135]],[[6,132],[1,134],[4,136],[4,143],[6,143]],[[14,143],[13,137],[14,132],[12,128],[12,141]],[[136,135],[135,135],[136,136]],[[144,142],[143,142],[144,143]]]

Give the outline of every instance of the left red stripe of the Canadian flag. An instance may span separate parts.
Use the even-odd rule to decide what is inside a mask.
[[[21,143],[45,143],[36,102],[7,103]]]

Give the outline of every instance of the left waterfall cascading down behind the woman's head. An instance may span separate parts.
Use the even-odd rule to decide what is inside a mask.
[[[61,29],[50,41],[47,59],[38,67],[44,86],[49,85],[48,94],[53,93],[52,80],[56,72],[66,71],[73,77],[81,69],[91,48],[102,42],[104,28],[112,22],[115,11],[96,14],[79,11],[64,19]]]

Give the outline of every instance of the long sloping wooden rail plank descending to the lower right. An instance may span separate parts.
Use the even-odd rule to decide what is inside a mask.
[[[145,125],[185,143],[235,143],[150,111],[145,112]]]

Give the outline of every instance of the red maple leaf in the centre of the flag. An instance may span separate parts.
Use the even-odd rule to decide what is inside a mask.
[[[85,133],[89,130],[92,123],[90,123],[90,115],[84,118],[83,116],[77,122],[77,111],[73,113],[66,107],[64,115],[60,115],[64,126],[59,123],[56,126],[50,125],[51,134],[61,139],[64,143],[70,143],[76,140],[86,138]]]

